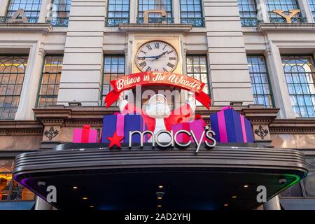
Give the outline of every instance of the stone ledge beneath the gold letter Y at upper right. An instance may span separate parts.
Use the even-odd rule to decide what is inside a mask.
[[[315,23],[266,23],[260,22],[257,31],[315,31]]]

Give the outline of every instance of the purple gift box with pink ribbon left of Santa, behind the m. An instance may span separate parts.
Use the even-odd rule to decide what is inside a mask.
[[[125,137],[124,143],[129,142],[129,132],[130,131],[140,131],[146,130],[144,125],[144,120],[141,115],[123,115],[114,114],[104,116],[103,118],[103,129],[102,129],[102,142],[109,143],[107,137],[113,137],[113,134],[117,132],[119,137]],[[146,138],[144,138],[145,140]],[[132,136],[132,142],[139,143],[140,135],[134,134]]]

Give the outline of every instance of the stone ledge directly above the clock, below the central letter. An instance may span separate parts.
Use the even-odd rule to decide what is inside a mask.
[[[174,24],[174,23],[148,23],[148,24],[139,24],[139,23],[129,23],[129,24],[120,24],[119,30],[123,32],[128,31],[170,31],[170,32],[183,32],[187,33],[192,30],[193,25],[187,24]]]

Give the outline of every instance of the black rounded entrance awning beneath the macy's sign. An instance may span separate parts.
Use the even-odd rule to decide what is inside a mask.
[[[288,149],[59,149],[18,155],[13,173],[42,198],[55,186],[58,209],[255,209],[258,186],[269,199],[307,175],[304,155]]]

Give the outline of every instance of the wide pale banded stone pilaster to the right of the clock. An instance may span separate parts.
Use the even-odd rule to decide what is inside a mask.
[[[237,0],[203,2],[213,105],[253,104]]]

